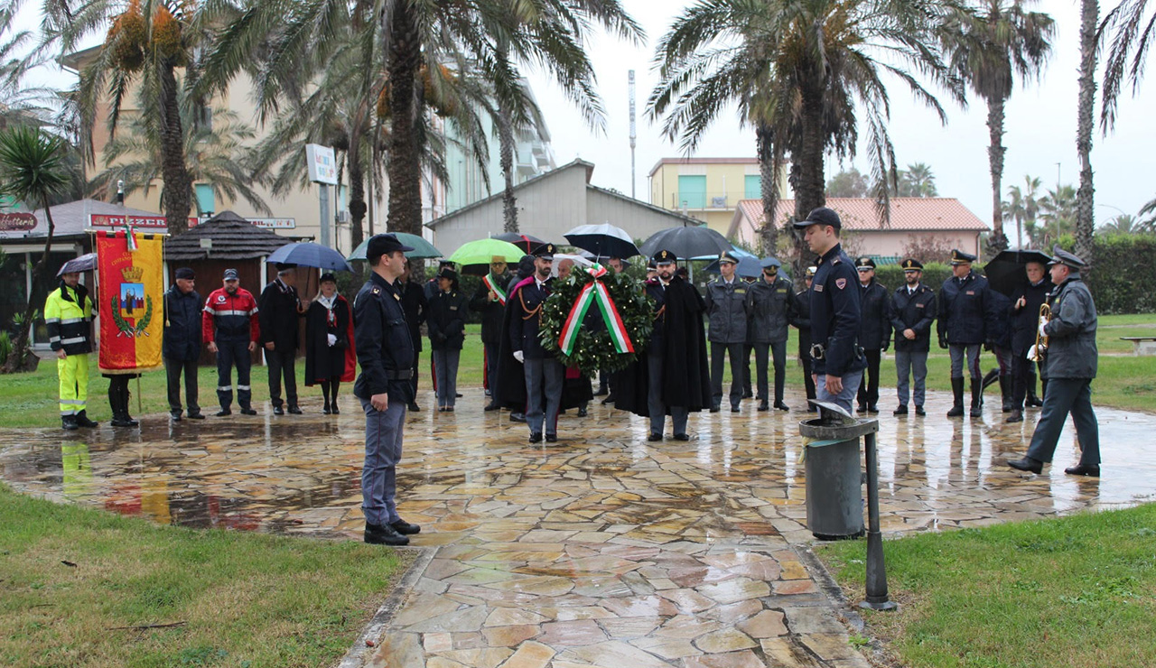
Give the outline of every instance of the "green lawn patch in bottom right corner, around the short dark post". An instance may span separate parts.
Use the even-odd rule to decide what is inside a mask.
[[[867,613],[909,668],[1154,666],[1156,505],[887,541],[898,613]],[[816,549],[862,600],[866,541]]]

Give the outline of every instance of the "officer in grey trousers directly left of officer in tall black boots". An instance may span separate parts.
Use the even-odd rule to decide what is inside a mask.
[[[932,347],[932,322],[935,320],[935,292],[920,282],[924,265],[907,258],[901,265],[906,283],[896,288],[891,300],[891,327],[895,328],[895,372],[898,377],[896,392],[899,407],[895,415],[907,414],[907,400],[912,398],[909,383],[914,377],[916,415],[924,416],[924,399],[927,392],[927,354]]]

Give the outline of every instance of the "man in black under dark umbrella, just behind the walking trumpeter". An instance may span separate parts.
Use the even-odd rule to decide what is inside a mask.
[[[1039,334],[1039,307],[1052,291],[1047,267],[1043,262],[1028,262],[1028,281],[1011,291],[1011,414],[1005,422],[1023,422],[1024,404],[1040,407],[1036,396],[1037,362],[1028,359],[1028,350]],[[1040,365],[1042,366],[1042,365]],[[1044,391],[1042,389],[1042,394]]]

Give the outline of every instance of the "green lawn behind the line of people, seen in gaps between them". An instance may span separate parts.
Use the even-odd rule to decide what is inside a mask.
[[[482,343],[479,337],[480,326],[468,325],[466,327],[466,347],[461,352],[461,363],[458,372],[458,385],[461,388],[481,387],[482,385]],[[1132,355],[1113,356],[1107,352],[1131,352],[1132,343],[1120,341],[1120,336],[1156,335],[1156,314],[1139,316],[1104,316],[1099,319],[1099,332],[1097,344],[1099,346],[1099,377],[1092,384],[1092,401],[1097,406],[1109,406],[1128,410],[1156,410],[1156,356],[1134,357]],[[429,342],[425,341],[425,350],[421,354],[423,374],[421,387],[431,387],[429,379]],[[796,331],[791,329],[791,340],[787,343],[790,357],[787,372],[787,384],[792,386],[802,385],[801,368],[795,362],[794,351],[798,350]],[[995,357],[984,354],[983,368],[994,369]],[[94,356],[90,365],[89,381],[89,416],[94,420],[108,420],[110,417],[109,403],[105,392],[109,387],[108,380],[96,370],[96,358]],[[751,359],[754,368],[754,359]],[[319,387],[307,388],[302,381],[305,363],[298,359],[297,385],[302,396],[302,402],[306,409],[312,407],[320,410],[321,391]],[[729,366],[727,366],[729,369]],[[950,392],[950,359],[947,350],[935,347],[928,358],[927,387]],[[268,401],[268,374],[265,366],[254,366],[252,374],[253,403],[261,404]],[[880,369],[882,385],[895,386],[895,359],[888,356]],[[729,383],[729,371],[727,371]],[[144,373],[140,379],[143,411],[163,413],[168,410],[165,400],[164,370],[156,370]],[[216,369],[205,366],[200,370],[200,401],[206,411],[216,404]],[[139,413],[136,408],[136,381],[129,383],[133,393],[132,411]],[[351,384],[342,386],[342,392],[348,398],[353,392]],[[996,392],[995,388],[988,392]],[[891,401],[891,394],[883,392],[883,404]],[[0,426],[38,426],[55,423],[58,409],[54,402],[57,398],[57,366],[54,359],[40,362],[40,368],[35,373],[14,374],[3,378],[0,383]]]

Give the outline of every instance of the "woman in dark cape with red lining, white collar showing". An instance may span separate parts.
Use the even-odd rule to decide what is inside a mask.
[[[349,302],[338,294],[333,274],[321,276],[321,292],[305,313],[305,385],[321,385],[325,415],[338,415],[341,381],[356,373],[353,318]]]

